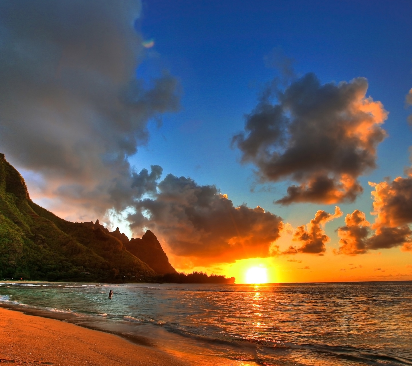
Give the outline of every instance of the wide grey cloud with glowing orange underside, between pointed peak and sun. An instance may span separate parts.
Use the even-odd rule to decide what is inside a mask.
[[[167,175],[157,193],[135,203],[131,228],[150,228],[163,237],[175,256],[192,263],[233,262],[267,257],[280,232],[281,217],[261,207],[235,207],[215,186]]]

